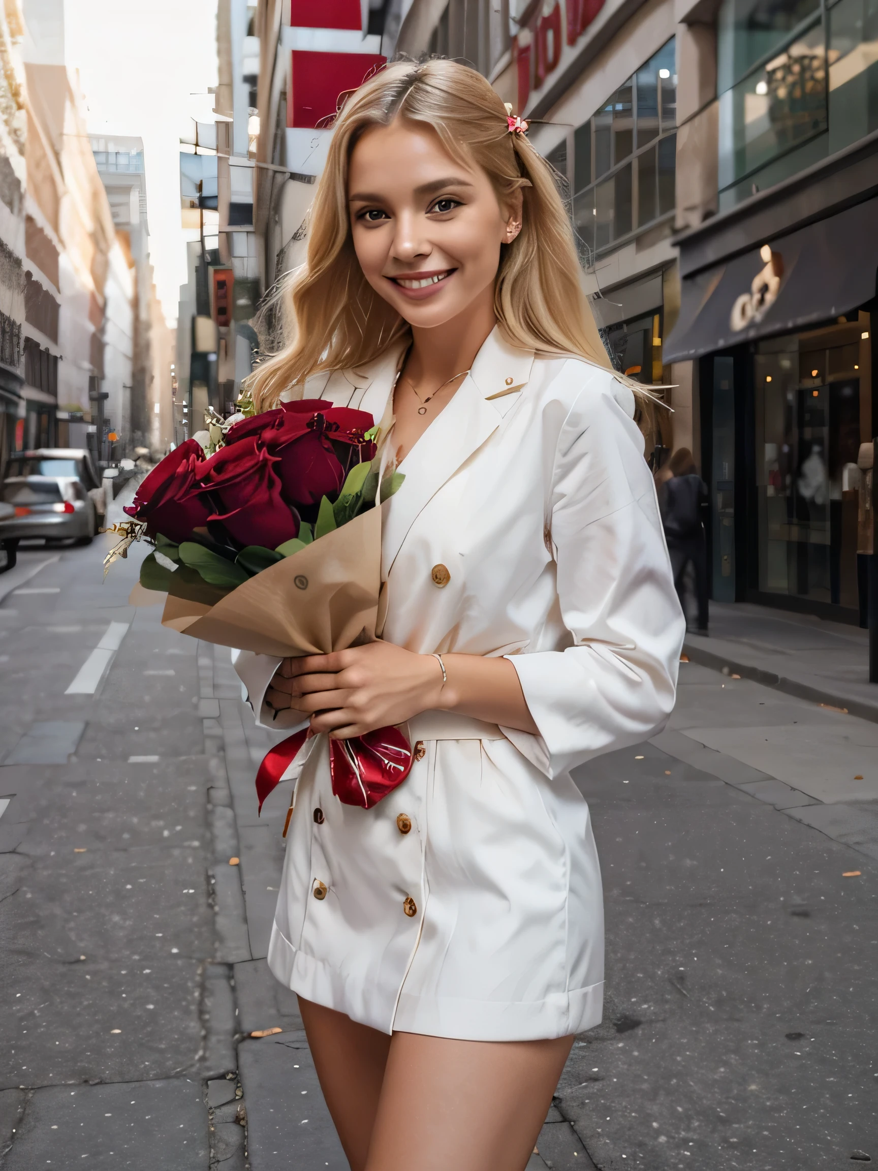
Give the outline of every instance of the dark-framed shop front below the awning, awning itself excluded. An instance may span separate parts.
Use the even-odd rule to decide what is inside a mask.
[[[700,361],[713,597],[865,618],[871,320]]]

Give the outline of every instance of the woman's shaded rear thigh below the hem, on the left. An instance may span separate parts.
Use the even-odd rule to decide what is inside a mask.
[[[320,1086],[351,1171],[363,1171],[390,1038],[302,997],[299,1011]]]

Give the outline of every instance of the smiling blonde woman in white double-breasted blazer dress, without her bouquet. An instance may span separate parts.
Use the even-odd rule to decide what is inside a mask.
[[[348,100],[290,308],[258,405],[322,397],[392,426],[386,618],[371,645],[238,671],[262,723],[407,723],[416,762],[366,812],[308,741],[269,965],[355,1171],[517,1171],[601,1020],[601,876],[569,769],[674,701],[682,622],[633,396],[550,169],[450,61]]]

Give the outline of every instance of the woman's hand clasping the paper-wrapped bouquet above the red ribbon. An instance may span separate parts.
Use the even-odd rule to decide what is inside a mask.
[[[441,667],[432,655],[378,641],[284,659],[266,699],[276,711],[309,715],[313,732],[347,740],[441,706]]]

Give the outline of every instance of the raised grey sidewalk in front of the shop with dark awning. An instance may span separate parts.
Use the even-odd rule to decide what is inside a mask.
[[[869,631],[748,603],[711,602],[711,634],[687,634],[692,663],[740,674],[811,703],[878,723],[869,682]]]

